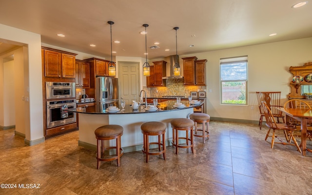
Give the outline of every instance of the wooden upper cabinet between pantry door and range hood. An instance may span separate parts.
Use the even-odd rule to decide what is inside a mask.
[[[166,61],[153,61],[153,65],[150,67],[150,76],[146,77],[147,87],[165,87],[166,80],[162,79],[166,77]]]

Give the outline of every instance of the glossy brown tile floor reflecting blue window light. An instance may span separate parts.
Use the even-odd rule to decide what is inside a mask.
[[[102,162],[78,146],[78,131],[25,146],[14,130],[0,131],[0,195],[311,195],[312,153],[264,137],[254,124],[210,122],[206,144],[195,137],[194,154],[167,147],[164,161],[126,153],[121,166]],[[297,138],[298,141],[300,140]],[[312,141],[308,146],[312,148]],[[40,189],[18,184],[40,184]]]

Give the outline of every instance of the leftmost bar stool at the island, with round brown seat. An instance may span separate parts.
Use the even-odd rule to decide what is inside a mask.
[[[121,148],[121,136],[123,134],[123,128],[120,125],[104,125],[98,127],[95,130],[95,135],[97,138],[97,160],[98,166],[97,169],[100,167],[100,161],[112,161],[117,159],[117,166],[120,166],[120,156],[123,155],[123,149]],[[111,140],[116,139],[116,146],[111,146],[108,148],[104,147],[104,140]],[[108,157],[104,156],[105,150],[116,149],[116,156]]]

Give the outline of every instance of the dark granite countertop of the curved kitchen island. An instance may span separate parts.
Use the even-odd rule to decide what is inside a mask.
[[[188,100],[181,100],[181,103],[185,105],[184,108],[176,108],[175,100],[168,100],[164,102],[159,102],[156,111],[148,111],[145,109],[145,105],[140,105],[137,110],[132,110],[130,105],[126,105],[123,111],[121,111],[121,106],[117,105],[120,111],[116,113],[108,113],[106,110],[102,109],[102,106],[96,102],[95,106],[88,106],[88,107],[79,107],[76,109],[68,109],[69,112],[76,112],[76,113],[84,113],[84,114],[140,114],[140,113],[155,113],[155,112],[167,112],[167,111],[175,111],[175,110],[182,110],[188,108],[194,108],[201,106],[204,101],[200,101],[200,104],[190,104]]]

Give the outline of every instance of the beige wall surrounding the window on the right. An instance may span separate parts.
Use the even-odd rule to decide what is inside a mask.
[[[220,105],[220,58],[248,56],[248,106]],[[290,66],[312,61],[312,38],[224,49],[180,56],[207,59],[207,113],[212,117],[259,120],[256,91],[281,91],[282,104],[290,93]],[[209,93],[209,89],[212,90]],[[252,110],[252,107],[254,108]]]

